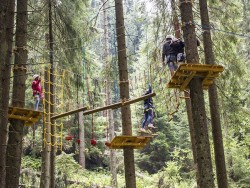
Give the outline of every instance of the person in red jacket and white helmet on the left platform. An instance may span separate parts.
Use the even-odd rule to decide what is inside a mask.
[[[41,78],[38,74],[33,75],[32,90],[35,99],[35,110],[38,111],[40,100],[43,99],[42,86],[40,84]]]

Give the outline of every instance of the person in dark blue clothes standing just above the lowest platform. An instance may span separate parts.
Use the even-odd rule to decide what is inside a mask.
[[[145,92],[144,95],[148,95],[152,93],[151,85],[148,86],[148,90]],[[148,126],[149,128],[155,128],[153,125],[153,99],[152,97],[144,100],[144,120],[142,122],[141,132],[147,132],[145,127]]]

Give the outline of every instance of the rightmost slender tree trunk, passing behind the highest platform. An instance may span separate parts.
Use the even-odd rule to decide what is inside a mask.
[[[203,40],[205,50],[205,62],[206,64],[215,64],[214,53],[212,48],[211,32],[207,28],[210,26],[207,1],[200,0],[200,14],[201,23],[203,26]],[[221,120],[219,111],[218,94],[215,83],[208,88],[210,114],[212,119],[212,132],[214,141],[214,153],[216,164],[216,175],[218,188],[227,188],[227,171],[225,164],[225,155],[221,131]]]

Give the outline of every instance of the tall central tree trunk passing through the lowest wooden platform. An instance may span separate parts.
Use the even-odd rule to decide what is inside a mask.
[[[115,0],[115,12],[116,12],[116,32],[117,32],[117,44],[118,44],[120,99],[128,100],[129,82],[128,82],[128,68],[127,68],[122,0]],[[122,133],[123,135],[132,135],[130,105],[122,107],[121,112],[122,112]],[[136,188],[134,151],[133,149],[124,149],[123,152],[124,152],[126,187]]]

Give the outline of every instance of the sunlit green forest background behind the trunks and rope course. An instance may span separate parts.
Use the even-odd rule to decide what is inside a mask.
[[[108,22],[104,21],[103,7]],[[250,187],[250,3],[248,0],[209,0],[213,49],[216,64],[225,71],[217,79],[221,125],[228,171],[229,187]],[[33,107],[32,75],[40,74],[49,64],[47,43],[48,8],[46,1],[28,1],[28,69],[26,107]],[[178,5],[176,5],[177,10]],[[113,103],[119,102],[119,76],[114,1],[53,1],[54,62],[64,77],[63,103],[57,113],[106,104],[109,78]],[[204,63],[202,25],[198,2],[193,3],[196,35],[201,41],[199,57]],[[178,13],[179,14],[179,13]],[[135,152],[137,187],[195,187],[195,167],[191,151],[185,101],[180,92],[166,88],[170,74],[161,66],[161,48],[166,35],[174,34],[170,2],[165,0],[124,1],[127,60],[130,97],[143,94],[148,84],[154,92],[154,125],[158,136],[143,150]],[[106,23],[107,25],[104,25]],[[108,58],[105,59],[104,29],[108,28]],[[107,68],[109,67],[109,68]],[[60,78],[58,79],[60,80]],[[209,103],[205,92],[207,111]],[[133,134],[143,118],[143,103],[131,105]],[[109,150],[106,112],[84,117],[86,169],[78,164],[78,115],[63,118],[62,151],[56,157],[56,186],[110,186]],[[121,112],[113,110],[115,134],[121,135]],[[207,113],[209,114],[209,113]],[[213,142],[211,117],[207,117],[211,151]],[[25,127],[20,184],[39,186],[42,120]],[[60,134],[60,131],[58,130]],[[73,135],[73,140],[64,138]],[[93,137],[97,145],[92,146]],[[118,187],[124,187],[122,151],[116,150]],[[212,157],[214,159],[214,157]],[[214,162],[214,161],[213,161]],[[215,166],[215,165],[213,165]],[[214,167],[215,168],[215,167]],[[81,185],[80,185],[81,184]]]

